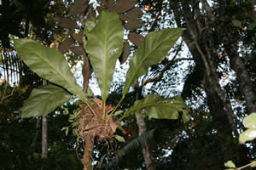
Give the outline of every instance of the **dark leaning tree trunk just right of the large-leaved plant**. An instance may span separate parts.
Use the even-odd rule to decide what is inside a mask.
[[[202,0],[202,5],[205,8],[206,3],[206,0]],[[183,40],[188,45],[189,51],[195,59],[195,64],[203,64],[205,67],[206,72],[202,84],[207,94],[207,104],[212,115],[212,122],[214,122],[213,128],[218,131],[218,144],[220,150],[224,152],[221,154],[224,158],[222,161],[235,161],[237,158],[236,162],[247,160],[246,152],[242,156],[236,156],[237,153],[241,153],[242,146],[231,142],[234,141],[234,134],[238,137],[235,123],[236,116],[232,111],[230,100],[226,98],[218,83],[218,50],[214,46],[215,39],[212,37],[212,25],[208,25],[210,21],[207,20],[205,15],[200,14],[201,10],[194,0],[183,0],[182,3],[175,1],[172,4],[177,25],[188,28],[183,34]],[[206,8],[207,13],[209,10],[210,8]],[[211,14],[209,18],[211,18]],[[210,20],[214,21],[214,18]],[[243,159],[239,159],[241,157]]]

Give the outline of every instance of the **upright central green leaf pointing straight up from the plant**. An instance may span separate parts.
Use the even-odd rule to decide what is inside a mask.
[[[96,27],[87,32],[85,46],[90,63],[102,91],[102,100],[108,97],[116,60],[123,51],[123,26],[119,15],[103,11]]]

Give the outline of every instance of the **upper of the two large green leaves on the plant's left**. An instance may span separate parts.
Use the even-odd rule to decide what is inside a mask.
[[[28,67],[49,82],[66,88],[86,103],[84,93],[71,73],[67,60],[55,48],[27,39],[15,40],[15,49]]]

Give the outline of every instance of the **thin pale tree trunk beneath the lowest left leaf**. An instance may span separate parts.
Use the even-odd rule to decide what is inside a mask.
[[[41,158],[47,158],[48,143],[47,143],[47,117],[42,116],[42,155]]]

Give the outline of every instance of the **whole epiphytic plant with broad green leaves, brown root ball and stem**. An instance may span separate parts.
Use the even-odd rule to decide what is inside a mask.
[[[90,55],[90,63],[102,92],[100,102],[93,99],[96,105],[91,105],[91,99],[86,97],[82,88],[79,87],[69,69],[67,60],[61,52],[55,48],[45,48],[39,42],[32,40],[15,40],[15,48],[26,65],[37,73],[39,77],[58,85],[49,84],[43,88],[34,89],[23,106],[21,116],[47,115],[49,112],[54,111],[58,105],[67,102],[71,94],[76,95],[84,105],[81,107],[82,112],[79,113],[79,117],[85,117],[81,118],[83,121],[80,121],[81,119],[79,118],[78,127],[82,131],[85,129],[85,134],[90,134],[84,136],[86,145],[82,162],[84,167],[88,167],[86,169],[91,169],[92,160],[89,158],[93,149],[94,137],[107,138],[112,135],[114,137],[113,133],[117,125],[119,125],[118,122],[122,121],[125,116],[131,115],[131,113],[140,113],[159,119],[177,119],[179,116],[177,113],[181,112],[183,120],[185,122],[189,121],[189,108],[181,97],[163,99],[155,95],[138,100],[131,107],[131,111],[128,111],[129,114],[126,112],[118,122],[113,122],[112,119],[118,106],[125,99],[125,95],[131,85],[137,82],[138,77],[147,73],[150,65],[157,64],[166,57],[167,52],[172,48],[178,37],[181,36],[183,30],[183,28],[172,28],[148,33],[145,40],[137,48],[137,52],[131,58],[122,98],[113,109],[109,109],[109,105],[106,105],[106,100],[113,80],[116,61],[123,51],[124,34],[123,26],[117,13],[103,10],[96,26],[85,31],[87,37],[85,48]],[[84,123],[84,119],[87,120],[87,123]],[[96,127],[93,127],[93,125],[96,125]],[[119,137],[116,137],[116,139],[122,140]]]

